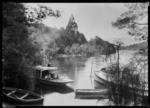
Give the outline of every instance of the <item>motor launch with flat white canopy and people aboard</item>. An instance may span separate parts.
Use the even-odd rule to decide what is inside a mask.
[[[66,85],[73,82],[73,80],[67,79],[65,77],[60,77],[57,73],[57,67],[43,67],[37,66],[36,68],[36,80],[41,84],[49,85]],[[51,78],[51,75],[54,78]]]

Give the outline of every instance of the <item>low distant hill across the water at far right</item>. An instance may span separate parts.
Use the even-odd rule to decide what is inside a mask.
[[[145,49],[145,48],[148,48],[147,42],[128,45],[128,46],[122,47],[121,49],[123,49],[123,50],[140,50],[140,49]]]

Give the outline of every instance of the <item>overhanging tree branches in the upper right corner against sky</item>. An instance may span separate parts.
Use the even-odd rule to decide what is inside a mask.
[[[129,10],[112,25],[119,29],[127,28],[129,35],[140,40],[148,40],[148,5],[149,3],[126,3]]]

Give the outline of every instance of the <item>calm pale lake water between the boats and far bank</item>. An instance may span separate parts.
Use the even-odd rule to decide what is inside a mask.
[[[120,61],[127,63],[135,51],[120,51]],[[43,106],[107,106],[108,99],[76,99],[75,89],[104,89],[104,85],[94,81],[93,73],[115,61],[116,54],[107,62],[104,56],[53,58],[52,66],[58,67],[58,73],[74,80],[64,87],[35,85],[34,91],[44,96]]]

